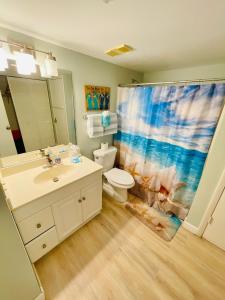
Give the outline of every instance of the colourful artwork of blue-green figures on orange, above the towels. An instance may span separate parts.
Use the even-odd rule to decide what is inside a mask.
[[[105,86],[85,85],[86,111],[109,110],[110,88]]]

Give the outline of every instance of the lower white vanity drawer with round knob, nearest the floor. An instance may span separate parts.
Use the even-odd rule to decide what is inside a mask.
[[[35,262],[56,245],[58,245],[58,236],[55,227],[53,227],[28,243],[26,249],[31,261]]]

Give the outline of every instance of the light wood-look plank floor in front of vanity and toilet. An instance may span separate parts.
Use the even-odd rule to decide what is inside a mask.
[[[183,228],[166,242],[106,198],[36,267],[47,300],[225,299],[225,252]]]

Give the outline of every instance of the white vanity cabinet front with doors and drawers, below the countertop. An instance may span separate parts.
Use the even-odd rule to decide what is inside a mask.
[[[32,262],[100,213],[102,171],[91,173],[13,210]]]

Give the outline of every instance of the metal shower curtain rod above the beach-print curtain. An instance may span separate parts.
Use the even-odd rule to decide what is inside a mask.
[[[180,80],[180,81],[161,81],[161,82],[144,82],[144,83],[130,83],[119,84],[119,87],[138,87],[138,86],[154,86],[154,85],[176,85],[176,84],[190,84],[190,83],[204,83],[204,82],[225,82],[225,78],[210,78],[210,79],[194,79],[194,80]]]

